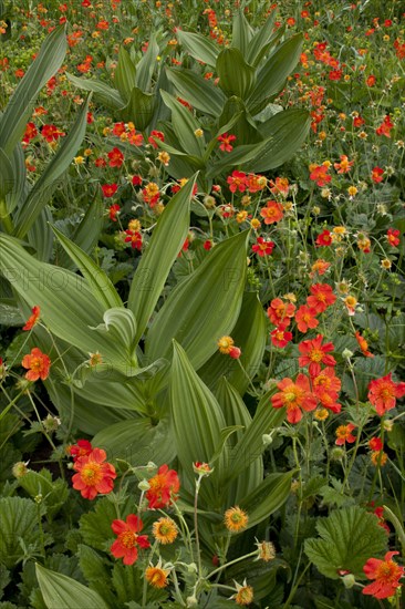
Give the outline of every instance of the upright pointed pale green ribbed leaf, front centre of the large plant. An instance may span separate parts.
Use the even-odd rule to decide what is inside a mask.
[[[209,463],[212,460],[221,446],[221,430],[226,423],[217,400],[199,379],[186,352],[176,341],[169,394],[176,452],[188,479],[188,489],[193,492],[193,463]],[[226,453],[221,452],[214,474],[201,487],[202,498],[210,496],[215,502],[210,508],[216,507],[218,503],[215,485],[225,463]]]

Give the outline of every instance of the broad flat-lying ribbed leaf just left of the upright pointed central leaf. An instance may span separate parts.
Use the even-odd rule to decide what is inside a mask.
[[[156,425],[149,419],[134,419],[108,425],[93,438],[107,451],[108,460],[124,458],[131,465],[170,463],[176,457],[172,424],[167,419]]]

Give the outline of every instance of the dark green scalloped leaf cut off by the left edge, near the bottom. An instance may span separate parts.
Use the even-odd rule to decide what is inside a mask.
[[[0,562],[12,569],[24,556],[20,539],[25,547],[37,545],[38,507],[31,499],[3,497],[0,499]]]

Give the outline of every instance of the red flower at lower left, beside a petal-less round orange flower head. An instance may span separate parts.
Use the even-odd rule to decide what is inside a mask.
[[[115,558],[123,558],[124,565],[133,565],[138,557],[137,546],[142,549],[150,547],[147,535],[138,535],[143,529],[143,522],[135,514],[129,514],[126,522],[113,520],[111,528],[118,537],[111,546]]]

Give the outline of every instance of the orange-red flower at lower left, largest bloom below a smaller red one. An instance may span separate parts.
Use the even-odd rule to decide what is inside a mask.
[[[94,499],[98,494],[107,495],[114,488],[116,478],[115,467],[104,463],[107,458],[105,451],[94,448],[85,456],[77,457],[73,465],[73,488],[80,491],[85,499]]]

